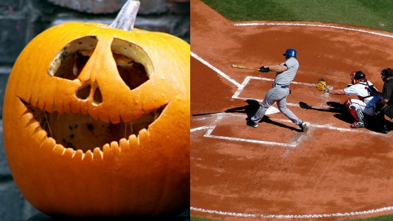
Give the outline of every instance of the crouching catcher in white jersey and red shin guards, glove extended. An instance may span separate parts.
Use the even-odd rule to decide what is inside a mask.
[[[345,107],[356,120],[351,124],[351,128],[364,128],[366,121],[363,114],[374,116],[373,107],[378,100],[382,100],[382,97],[377,95],[377,88],[373,86],[373,83],[367,81],[366,74],[363,72],[352,72],[349,76],[352,84],[348,84],[347,88],[331,90],[326,86],[324,79],[319,79],[317,89],[332,95],[357,95],[359,100],[349,98],[345,101]]]

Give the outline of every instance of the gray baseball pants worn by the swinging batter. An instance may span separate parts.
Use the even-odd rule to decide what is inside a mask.
[[[302,123],[302,120],[298,119],[298,116],[293,114],[290,109],[286,108],[286,98],[289,95],[289,88],[286,86],[274,86],[265,95],[265,100],[262,101],[262,105],[260,105],[258,111],[251,118],[251,121],[258,123],[263,116],[265,116],[265,112],[267,108],[272,106],[274,102],[277,102],[277,107],[279,111],[283,113],[288,119],[290,119],[295,124]]]

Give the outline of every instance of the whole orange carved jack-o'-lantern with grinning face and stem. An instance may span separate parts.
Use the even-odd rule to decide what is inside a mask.
[[[189,44],[133,24],[114,28],[133,20],[130,8],[135,16],[139,1],[128,1],[110,27],[47,29],[12,69],[6,157],[20,192],[43,213],[152,216],[189,208]]]

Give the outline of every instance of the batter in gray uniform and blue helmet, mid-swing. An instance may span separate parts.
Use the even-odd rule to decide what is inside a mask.
[[[254,114],[251,119],[247,120],[247,125],[254,128],[258,127],[258,122],[265,116],[267,108],[277,103],[279,111],[283,113],[293,123],[300,126],[300,130],[305,132],[307,130],[307,124],[300,120],[290,109],[286,107],[286,98],[289,95],[289,83],[295,79],[296,73],[298,72],[299,62],[296,59],[298,52],[295,49],[289,48],[283,54],[286,58],[286,62],[281,63],[277,66],[262,66],[260,72],[276,72],[274,83],[272,88],[267,91],[265,99],[262,101],[258,111]]]

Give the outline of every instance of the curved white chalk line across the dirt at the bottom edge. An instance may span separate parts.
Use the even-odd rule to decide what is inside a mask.
[[[393,206],[387,206],[378,209],[364,210],[364,211],[356,211],[356,212],[347,212],[347,213],[324,213],[324,214],[305,214],[305,215],[264,215],[259,213],[235,213],[235,212],[223,212],[218,210],[206,210],[203,208],[190,207],[190,210],[202,212],[202,213],[211,213],[218,215],[230,215],[235,217],[258,217],[258,218],[281,218],[281,219],[304,219],[304,218],[321,218],[321,217],[344,217],[350,215],[364,215],[371,213],[381,213],[389,210],[393,210]]]

